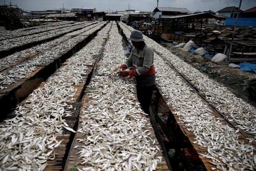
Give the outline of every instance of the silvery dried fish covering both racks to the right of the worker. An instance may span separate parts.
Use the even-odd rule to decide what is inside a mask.
[[[120,23],[120,26],[124,34],[127,37],[130,36],[130,30],[133,30],[133,28],[127,27],[123,23]],[[169,67],[168,62],[173,64],[192,83],[195,83],[199,90],[202,90],[201,87],[205,88],[205,86],[208,86],[208,84],[206,85],[208,82],[213,84],[207,87],[210,88],[206,94],[214,100],[214,104],[218,104],[217,107],[221,112],[228,115],[236,115],[237,120],[233,117],[233,121],[239,124],[239,129],[246,130],[250,133],[255,132],[256,120],[254,114],[256,112],[254,107],[242,101],[242,99],[236,98],[234,94],[227,91],[223,86],[218,86],[218,83],[210,80],[210,78],[207,79],[203,73],[200,73],[179,59],[179,57],[171,54],[171,52],[160,46],[160,44],[150,40],[147,36],[144,36],[144,39],[157,52],[157,54],[155,53],[155,65],[157,69],[156,83],[158,84],[158,88],[163,92],[168,105],[174,109],[173,113],[178,115],[180,120],[186,124],[187,130],[194,133],[195,143],[208,149],[207,154],[201,155],[211,159],[219,170],[254,170],[255,164],[253,160],[255,149],[252,144],[255,143],[255,138],[254,140],[250,140],[249,143],[240,141],[237,130],[229,127],[221,119],[216,118],[213,111],[209,109],[209,106],[204,104],[200,96],[187,86],[179,73]],[[217,86],[215,87],[215,85]],[[231,103],[241,103],[241,106],[237,104],[236,107],[231,105]],[[231,108],[237,113],[234,114],[231,112]],[[249,118],[249,122],[247,118]]]

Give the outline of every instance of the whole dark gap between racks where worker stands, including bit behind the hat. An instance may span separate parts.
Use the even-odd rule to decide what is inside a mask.
[[[118,28],[123,37],[124,51],[127,52],[131,45],[119,25]],[[167,123],[164,123],[158,115],[160,112],[165,112],[165,114],[169,115]],[[184,135],[176,122],[174,115],[169,110],[157,85],[153,91],[150,106],[150,120],[155,130],[156,138],[163,149],[163,155],[169,170],[207,170],[190,143],[189,138]],[[191,161],[191,158],[188,159],[188,156],[184,155],[184,151],[193,151],[195,154],[193,156],[194,161]]]

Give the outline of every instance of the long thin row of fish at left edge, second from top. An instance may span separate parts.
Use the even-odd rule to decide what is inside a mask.
[[[92,25],[95,22],[81,22],[79,25],[77,23],[73,24],[74,26],[64,27],[59,29],[54,29],[51,31],[46,31],[43,33],[36,33],[33,35],[20,36],[17,38],[1,40],[0,41],[0,51],[7,51],[12,48],[16,48],[19,46],[24,46],[25,44],[33,43],[36,41],[46,40],[48,38],[52,38],[54,36],[62,35],[65,33],[69,33],[70,31],[77,30],[79,28],[87,27],[88,25]]]

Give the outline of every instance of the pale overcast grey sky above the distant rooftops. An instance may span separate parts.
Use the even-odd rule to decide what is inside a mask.
[[[156,7],[156,0],[6,0],[5,3],[17,4],[25,10],[46,10],[64,8],[95,7],[97,11],[126,10],[152,11]],[[217,11],[227,6],[239,6],[240,0],[159,0],[160,7],[186,7],[191,12],[197,10]],[[4,0],[0,0],[4,4]],[[256,6],[256,0],[243,0],[241,9],[246,10]]]

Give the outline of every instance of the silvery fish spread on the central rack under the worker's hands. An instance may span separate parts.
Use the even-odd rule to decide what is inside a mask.
[[[126,57],[116,23],[109,31],[103,65],[89,85],[78,141],[79,170],[155,170],[161,157],[129,80],[113,72]],[[149,124],[150,125],[150,124]],[[150,125],[151,126],[151,125]],[[149,127],[150,127],[149,126]]]

